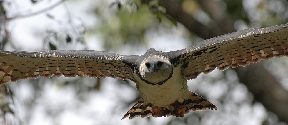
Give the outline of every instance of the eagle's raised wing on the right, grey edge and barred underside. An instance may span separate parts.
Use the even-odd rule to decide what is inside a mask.
[[[215,68],[226,70],[237,65],[247,66],[261,59],[288,56],[288,24],[272,27],[250,28],[204,40],[179,53],[183,61],[182,73],[187,79],[196,78],[201,72]]]

